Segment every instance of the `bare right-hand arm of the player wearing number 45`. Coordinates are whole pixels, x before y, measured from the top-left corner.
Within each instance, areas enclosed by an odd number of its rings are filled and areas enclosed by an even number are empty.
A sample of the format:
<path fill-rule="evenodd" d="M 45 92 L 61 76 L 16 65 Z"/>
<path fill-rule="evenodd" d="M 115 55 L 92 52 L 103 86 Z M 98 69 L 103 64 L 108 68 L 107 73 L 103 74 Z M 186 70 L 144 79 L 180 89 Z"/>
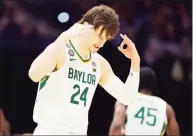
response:
<path fill-rule="evenodd" d="M 170 105 L 167 105 L 166 113 L 168 118 L 168 125 L 166 130 L 167 135 L 179 136 L 180 130 L 179 130 L 178 122 L 176 120 L 174 110 Z"/>

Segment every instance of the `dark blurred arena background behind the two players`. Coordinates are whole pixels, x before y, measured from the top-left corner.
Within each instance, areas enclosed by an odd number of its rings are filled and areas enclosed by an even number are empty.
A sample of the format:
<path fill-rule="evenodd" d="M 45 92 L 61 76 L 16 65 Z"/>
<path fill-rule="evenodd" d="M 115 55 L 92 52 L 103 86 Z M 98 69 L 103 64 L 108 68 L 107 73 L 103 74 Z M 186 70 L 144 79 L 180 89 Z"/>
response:
<path fill-rule="evenodd" d="M 107 4 L 119 13 L 120 32 L 135 43 L 141 66 L 155 71 L 158 96 L 173 106 L 181 135 L 192 135 L 191 0 L 1 0 L 0 108 L 11 132 L 32 133 L 36 127 L 32 112 L 37 84 L 28 77 L 32 61 L 98 4 Z M 117 36 L 99 53 L 125 82 L 130 62 L 117 50 L 120 42 Z M 101 87 L 97 88 L 90 109 L 89 135 L 108 133 L 114 102 Z"/>

